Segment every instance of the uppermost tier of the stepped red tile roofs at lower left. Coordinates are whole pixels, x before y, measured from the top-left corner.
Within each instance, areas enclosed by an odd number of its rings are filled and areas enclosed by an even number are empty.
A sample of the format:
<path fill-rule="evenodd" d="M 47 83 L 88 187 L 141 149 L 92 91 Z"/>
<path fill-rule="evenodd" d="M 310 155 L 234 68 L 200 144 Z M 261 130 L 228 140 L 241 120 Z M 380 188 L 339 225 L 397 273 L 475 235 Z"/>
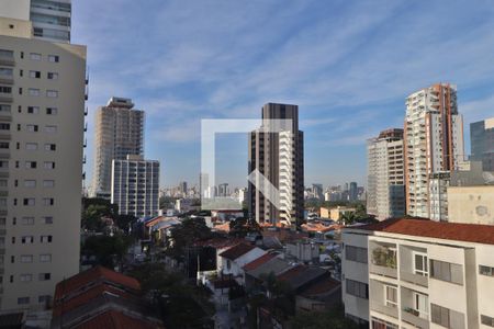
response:
<path fill-rule="evenodd" d="M 105 280 L 135 291 L 141 291 L 141 284 L 134 277 L 114 272 L 103 266 L 96 266 L 57 283 L 54 299 L 56 302 L 64 295 L 99 280 Z"/>

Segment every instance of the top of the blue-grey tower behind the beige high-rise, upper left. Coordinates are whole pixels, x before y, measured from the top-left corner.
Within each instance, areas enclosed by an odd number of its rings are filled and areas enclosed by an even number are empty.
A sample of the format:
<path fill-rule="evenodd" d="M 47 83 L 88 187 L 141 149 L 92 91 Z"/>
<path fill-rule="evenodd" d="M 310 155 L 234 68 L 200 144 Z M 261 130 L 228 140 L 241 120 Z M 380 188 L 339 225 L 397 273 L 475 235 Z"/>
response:
<path fill-rule="evenodd" d="M 2 0 L 0 16 L 33 23 L 33 36 L 70 43 L 71 0 Z"/>

